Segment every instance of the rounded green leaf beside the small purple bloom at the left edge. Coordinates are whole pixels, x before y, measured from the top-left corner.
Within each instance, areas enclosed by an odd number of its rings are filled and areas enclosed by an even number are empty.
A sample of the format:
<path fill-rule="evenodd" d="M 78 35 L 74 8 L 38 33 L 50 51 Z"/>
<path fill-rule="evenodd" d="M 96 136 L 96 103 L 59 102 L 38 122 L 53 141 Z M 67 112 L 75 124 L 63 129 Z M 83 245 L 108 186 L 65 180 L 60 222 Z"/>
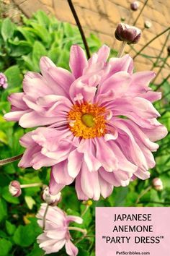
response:
<path fill-rule="evenodd" d="M 22 83 L 22 75 L 20 74 L 19 67 L 14 65 L 6 69 L 4 74 L 7 77 L 9 88 L 15 88 Z"/>

